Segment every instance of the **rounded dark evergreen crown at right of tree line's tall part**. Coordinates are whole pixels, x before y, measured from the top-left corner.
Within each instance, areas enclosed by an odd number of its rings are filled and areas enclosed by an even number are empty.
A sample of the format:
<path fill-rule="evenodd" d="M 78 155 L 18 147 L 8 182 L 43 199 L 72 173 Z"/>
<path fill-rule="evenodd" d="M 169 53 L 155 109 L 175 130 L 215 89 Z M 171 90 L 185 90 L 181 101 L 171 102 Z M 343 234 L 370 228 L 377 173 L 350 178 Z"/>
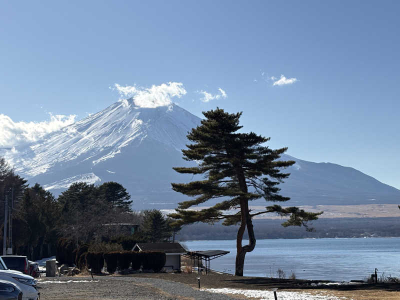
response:
<path fill-rule="evenodd" d="M 97 188 L 99 195 L 110 203 L 113 208 L 132 211 L 130 208 L 132 204 L 132 200 L 129 200 L 130 195 L 120 183 L 113 181 L 104 182 Z"/>

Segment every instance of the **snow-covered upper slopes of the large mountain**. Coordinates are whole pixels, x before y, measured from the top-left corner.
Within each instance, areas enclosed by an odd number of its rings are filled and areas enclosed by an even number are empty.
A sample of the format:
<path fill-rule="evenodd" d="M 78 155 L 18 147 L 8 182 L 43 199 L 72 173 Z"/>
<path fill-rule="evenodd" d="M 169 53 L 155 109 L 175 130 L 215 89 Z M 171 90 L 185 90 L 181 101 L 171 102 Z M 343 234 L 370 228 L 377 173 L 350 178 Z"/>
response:
<path fill-rule="evenodd" d="M 90 161 L 96 165 L 121 153 L 127 145 L 138 146 L 151 138 L 180 151 L 187 131 L 199 118 L 177 105 L 142 108 L 132 99 L 118 101 L 60 131 L 45 136 L 18 153 L 7 155 L 15 170 L 27 177 L 48 172 L 62 164 Z"/>

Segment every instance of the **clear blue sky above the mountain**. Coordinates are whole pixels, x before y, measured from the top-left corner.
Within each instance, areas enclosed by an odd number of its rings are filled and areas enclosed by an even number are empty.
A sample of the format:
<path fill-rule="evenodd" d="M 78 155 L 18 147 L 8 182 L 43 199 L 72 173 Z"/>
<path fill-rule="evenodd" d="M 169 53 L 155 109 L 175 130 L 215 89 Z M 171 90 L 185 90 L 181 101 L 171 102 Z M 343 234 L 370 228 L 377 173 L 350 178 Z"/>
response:
<path fill-rule="evenodd" d="M 49 112 L 79 119 L 118 99 L 114 83 L 181 82 L 187 93 L 174 100 L 196 115 L 243 111 L 244 130 L 271 136 L 271 147 L 400 188 L 399 8 L 0 1 L 0 113 L 15 123 L 50 120 Z M 273 85 L 281 75 L 287 84 Z M 199 91 L 218 88 L 226 97 L 201 100 Z"/>

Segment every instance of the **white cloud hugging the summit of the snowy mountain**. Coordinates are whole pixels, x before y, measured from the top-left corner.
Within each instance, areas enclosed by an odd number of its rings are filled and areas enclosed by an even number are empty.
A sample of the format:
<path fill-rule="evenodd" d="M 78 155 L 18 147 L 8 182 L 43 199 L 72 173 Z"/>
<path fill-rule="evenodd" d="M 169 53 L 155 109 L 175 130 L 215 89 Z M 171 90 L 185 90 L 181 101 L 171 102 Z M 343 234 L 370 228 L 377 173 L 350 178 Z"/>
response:
<path fill-rule="evenodd" d="M 181 82 L 162 83 L 160 85 L 151 85 L 148 88 L 136 85 L 122 86 L 115 83 L 114 89 L 119 92 L 121 101 L 131 97 L 136 106 L 150 108 L 170 105 L 172 104 L 172 97 L 180 98 L 186 94 L 186 90 Z"/>

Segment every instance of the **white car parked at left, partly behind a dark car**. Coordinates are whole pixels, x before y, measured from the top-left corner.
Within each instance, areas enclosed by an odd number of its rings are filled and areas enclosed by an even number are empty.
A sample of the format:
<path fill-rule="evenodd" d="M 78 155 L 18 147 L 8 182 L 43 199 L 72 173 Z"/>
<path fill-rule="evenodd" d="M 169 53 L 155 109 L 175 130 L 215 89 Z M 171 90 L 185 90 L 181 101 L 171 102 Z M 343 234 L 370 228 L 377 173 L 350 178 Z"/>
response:
<path fill-rule="evenodd" d="M 10 281 L 22 291 L 22 300 L 38 300 L 39 292 L 36 289 L 36 280 L 20 271 L 7 269 L 0 257 L 0 280 Z"/>

